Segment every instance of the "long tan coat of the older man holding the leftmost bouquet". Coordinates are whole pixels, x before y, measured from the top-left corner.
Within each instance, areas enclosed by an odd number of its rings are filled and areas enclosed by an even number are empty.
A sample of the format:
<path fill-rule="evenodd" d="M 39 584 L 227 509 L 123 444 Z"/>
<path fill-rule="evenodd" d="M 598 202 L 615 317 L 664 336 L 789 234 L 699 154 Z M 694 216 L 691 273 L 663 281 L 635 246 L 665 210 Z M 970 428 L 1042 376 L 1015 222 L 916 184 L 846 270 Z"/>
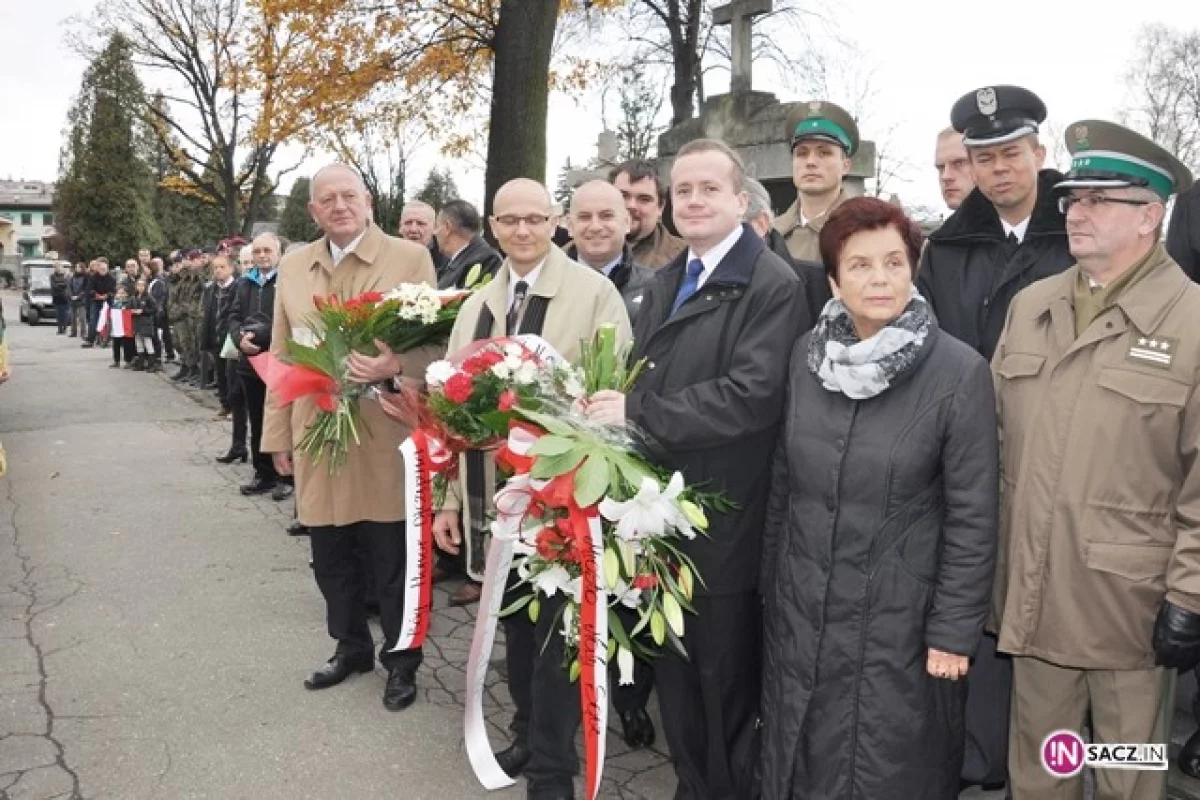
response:
<path fill-rule="evenodd" d="M 434 285 L 433 260 L 420 245 L 389 236 L 372 224 L 352 253 L 334 266 L 328 237 L 288 253 L 280 261 L 275 287 L 271 353 L 283 356 L 289 338 L 305 336 L 317 313 L 313 297 L 350 299 L 365 291 L 388 291 L 401 283 Z M 401 356 L 407 381 L 424 385 L 425 368 L 440 348 L 418 348 Z M 310 527 L 404 518 L 403 461 L 400 444 L 410 431 L 388 417 L 379 403 L 360 402 L 361 444 L 352 444 L 346 464 L 330 475 L 325 462 L 313 464 L 295 453 L 295 498 L 300 522 Z M 263 420 L 263 452 L 288 452 L 317 417 L 317 403 L 304 397 L 278 407 L 268 393 Z"/>

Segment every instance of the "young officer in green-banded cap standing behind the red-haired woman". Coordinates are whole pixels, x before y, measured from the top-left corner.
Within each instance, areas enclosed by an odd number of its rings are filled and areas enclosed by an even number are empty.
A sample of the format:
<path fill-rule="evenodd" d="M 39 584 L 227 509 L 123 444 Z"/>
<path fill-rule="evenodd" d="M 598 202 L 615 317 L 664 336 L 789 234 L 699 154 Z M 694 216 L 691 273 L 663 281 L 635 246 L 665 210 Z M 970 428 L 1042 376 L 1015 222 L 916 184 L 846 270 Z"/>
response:
<path fill-rule="evenodd" d="M 858 152 L 858 125 L 846 109 L 828 101 L 800 103 L 787 119 L 792 142 L 796 203 L 775 219 L 792 258 L 820 261 L 817 239 L 829 212 L 846 200 L 842 180 Z"/>

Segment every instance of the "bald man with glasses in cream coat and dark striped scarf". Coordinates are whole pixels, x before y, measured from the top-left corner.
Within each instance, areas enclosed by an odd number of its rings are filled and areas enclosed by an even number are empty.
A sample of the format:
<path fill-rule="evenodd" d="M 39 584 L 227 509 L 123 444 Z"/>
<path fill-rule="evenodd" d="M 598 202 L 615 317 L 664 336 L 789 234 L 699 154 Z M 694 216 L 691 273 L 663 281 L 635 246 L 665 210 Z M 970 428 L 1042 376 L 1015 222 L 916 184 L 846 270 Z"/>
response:
<path fill-rule="evenodd" d="M 564 359 L 576 361 L 580 343 L 590 339 L 601 325 L 616 325 L 618 343 L 629 342 L 629 317 L 617 288 L 551 243 L 558 221 L 545 186 L 526 179 L 505 184 L 496 193 L 490 222 L 508 258 L 496 278 L 463 306 L 450 335 L 451 355 L 473 341 L 532 333 L 546 339 Z M 479 452 L 464 458 L 461 497 L 466 525 L 460 523 L 460 503 L 452 493 L 433 522 L 438 547 L 448 553 L 466 548 L 468 572 L 476 579 L 484 577 L 484 531 L 496 488 L 490 462 Z M 514 572 L 510 585 L 516 581 Z M 526 591 L 528 588 L 522 588 L 505 597 L 505 604 Z M 578 770 L 578 687 L 563 667 L 562 636 L 553 630 L 557 600 L 542 600 L 536 627 L 526 614 L 504 618 L 509 691 L 516 704 L 510 726 L 515 742 L 498 753 L 497 760 L 514 777 L 527 772 L 530 798 L 572 796 L 571 777 Z"/>

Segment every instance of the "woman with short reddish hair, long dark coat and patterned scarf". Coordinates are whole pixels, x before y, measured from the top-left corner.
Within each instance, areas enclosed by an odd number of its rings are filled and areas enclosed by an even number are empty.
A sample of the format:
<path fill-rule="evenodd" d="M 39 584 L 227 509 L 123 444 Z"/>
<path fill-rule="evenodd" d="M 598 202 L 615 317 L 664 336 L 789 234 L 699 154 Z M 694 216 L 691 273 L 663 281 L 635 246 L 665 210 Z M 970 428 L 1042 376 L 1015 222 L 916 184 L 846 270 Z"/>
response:
<path fill-rule="evenodd" d="M 953 800 L 996 558 L 988 363 L 913 288 L 920 234 L 845 203 L 791 356 L 763 547 L 764 800 Z"/>

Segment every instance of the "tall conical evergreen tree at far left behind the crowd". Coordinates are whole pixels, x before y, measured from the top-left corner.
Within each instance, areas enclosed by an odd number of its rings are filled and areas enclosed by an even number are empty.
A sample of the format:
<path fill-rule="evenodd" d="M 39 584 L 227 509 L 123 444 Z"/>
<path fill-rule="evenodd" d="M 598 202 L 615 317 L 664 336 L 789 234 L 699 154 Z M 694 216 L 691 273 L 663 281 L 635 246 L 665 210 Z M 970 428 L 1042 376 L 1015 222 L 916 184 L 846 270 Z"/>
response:
<path fill-rule="evenodd" d="M 144 106 L 130 43 L 114 35 L 84 72 L 67 116 L 54 212 L 72 260 L 121 260 L 163 243 L 154 173 L 139 146 Z"/>

